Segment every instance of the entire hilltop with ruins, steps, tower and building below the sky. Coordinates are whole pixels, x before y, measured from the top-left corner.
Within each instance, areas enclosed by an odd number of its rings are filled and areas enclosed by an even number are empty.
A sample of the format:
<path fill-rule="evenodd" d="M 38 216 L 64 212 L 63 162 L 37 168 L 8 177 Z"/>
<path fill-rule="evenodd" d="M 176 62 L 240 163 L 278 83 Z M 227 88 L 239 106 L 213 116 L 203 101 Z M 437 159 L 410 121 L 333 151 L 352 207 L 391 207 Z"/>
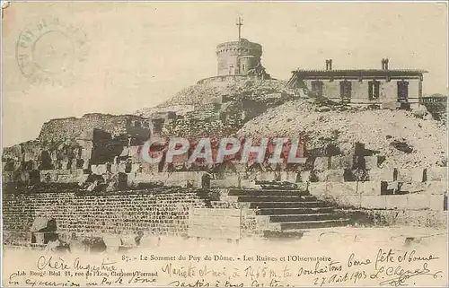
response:
<path fill-rule="evenodd" d="M 261 65 L 262 46 L 242 38 L 241 18 L 237 25 L 238 40 L 216 47 L 217 74 L 159 107 L 52 119 L 37 139 L 4 148 L 4 243 L 30 243 L 39 217 L 56 220 L 61 234 L 186 236 L 192 209 L 203 208 L 209 210 L 202 210 L 199 229 L 207 229 L 214 209 L 238 211 L 239 237 L 297 236 L 342 225 L 447 224 L 440 141 L 447 97 L 422 95 L 426 71 L 389 69 L 388 59 L 382 69 L 333 70 L 327 59 L 326 70 L 297 69 L 288 82 L 279 81 Z M 399 123 L 407 129 L 371 139 L 357 125 L 369 121 L 353 121 L 360 115 L 375 120 L 365 130 L 397 131 Z M 253 134 L 304 135 L 304 161 L 188 167 L 148 164 L 139 155 L 154 135 Z M 429 137 L 435 143 L 423 144 Z M 427 146 L 430 152 L 422 149 Z"/>

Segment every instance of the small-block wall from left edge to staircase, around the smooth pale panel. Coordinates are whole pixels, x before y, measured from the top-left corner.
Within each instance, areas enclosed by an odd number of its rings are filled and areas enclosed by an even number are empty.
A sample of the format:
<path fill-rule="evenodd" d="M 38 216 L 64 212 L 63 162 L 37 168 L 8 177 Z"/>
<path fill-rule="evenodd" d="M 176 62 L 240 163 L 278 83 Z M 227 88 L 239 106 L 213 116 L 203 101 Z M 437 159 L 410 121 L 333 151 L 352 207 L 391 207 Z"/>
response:
<path fill-rule="evenodd" d="M 4 194 L 4 240 L 15 245 L 30 242 L 30 229 L 36 217 L 54 218 L 57 231 L 77 236 L 98 237 L 107 234 L 145 234 L 186 236 L 189 212 L 194 208 L 241 210 L 243 238 L 262 237 L 269 226 L 266 216 L 258 215 L 249 205 L 201 194 L 195 189 L 163 188 L 164 192 L 143 190 L 104 195 L 76 193 Z M 215 192 L 214 192 L 215 191 Z M 223 191 L 222 191 L 223 192 Z"/>

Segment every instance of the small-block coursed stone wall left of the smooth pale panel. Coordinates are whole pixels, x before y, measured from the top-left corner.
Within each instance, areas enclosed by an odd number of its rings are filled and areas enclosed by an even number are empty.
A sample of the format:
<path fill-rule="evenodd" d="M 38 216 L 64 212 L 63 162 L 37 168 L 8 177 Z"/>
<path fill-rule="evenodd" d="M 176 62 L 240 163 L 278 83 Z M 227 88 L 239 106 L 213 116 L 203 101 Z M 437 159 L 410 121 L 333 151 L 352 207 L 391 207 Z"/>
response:
<path fill-rule="evenodd" d="M 3 201 L 4 231 L 30 231 L 37 216 L 51 216 L 57 220 L 58 231 L 75 231 L 80 235 L 102 231 L 181 235 L 187 232 L 189 206 L 205 206 L 195 190 L 179 188 L 176 192 L 136 194 L 135 191 L 107 196 L 4 194 Z"/>

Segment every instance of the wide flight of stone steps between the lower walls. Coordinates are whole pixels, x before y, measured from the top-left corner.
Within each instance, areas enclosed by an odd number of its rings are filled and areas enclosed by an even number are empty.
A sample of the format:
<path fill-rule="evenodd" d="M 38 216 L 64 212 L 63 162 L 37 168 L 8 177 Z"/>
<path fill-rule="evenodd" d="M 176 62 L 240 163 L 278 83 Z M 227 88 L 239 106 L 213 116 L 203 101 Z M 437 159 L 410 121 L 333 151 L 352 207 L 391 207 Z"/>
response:
<path fill-rule="evenodd" d="M 291 183 L 256 182 L 260 188 L 230 189 L 229 196 L 237 202 L 248 203 L 257 214 L 269 217 L 269 231 L 284 233 L 314 228 L 345 226 L 350 216 L 319 200 Z"/>

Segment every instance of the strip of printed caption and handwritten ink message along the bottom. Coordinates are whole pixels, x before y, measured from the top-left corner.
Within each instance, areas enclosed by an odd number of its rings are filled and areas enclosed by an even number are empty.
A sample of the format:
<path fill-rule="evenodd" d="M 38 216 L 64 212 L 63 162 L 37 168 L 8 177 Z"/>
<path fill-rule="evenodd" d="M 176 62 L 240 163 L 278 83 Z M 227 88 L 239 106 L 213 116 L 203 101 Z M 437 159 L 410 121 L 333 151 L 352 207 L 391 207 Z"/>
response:
<path fill-rule="evenodd" d="M 146 256 L 102 257 L 87 261 L 83 257 L 41 255 L 34 269 L 13 272 L 7 278 L 11 286 L 119 286 L 163 285 L 172 287 L 290 287 L 298 284 L 326 285 L 413 285 L 426 277 L 427 283 L 445 277 L 436 269 L 436 255 L 417 250 L 378 249 L 372 257 L 348 254 L 343 259 L 304 257 L 314 261 L 258 261 L 257 256 L 238 257 L 198 255 L 164 256 L 161 260 Z M 275 258 L 275 257 L 273 257 Z M 165 260 L 169 259 L 169 260 Z M 174 261 L 172 261 L 174 259 Z M 120 261 L 121 260 L 121 261 Z M 130 261 L 145 261 L 153 271 L 129 270 Z M 235 266 L 240 260 L 241 266 Z M 136 267 L 136 266 L 135 266 Z"/>

